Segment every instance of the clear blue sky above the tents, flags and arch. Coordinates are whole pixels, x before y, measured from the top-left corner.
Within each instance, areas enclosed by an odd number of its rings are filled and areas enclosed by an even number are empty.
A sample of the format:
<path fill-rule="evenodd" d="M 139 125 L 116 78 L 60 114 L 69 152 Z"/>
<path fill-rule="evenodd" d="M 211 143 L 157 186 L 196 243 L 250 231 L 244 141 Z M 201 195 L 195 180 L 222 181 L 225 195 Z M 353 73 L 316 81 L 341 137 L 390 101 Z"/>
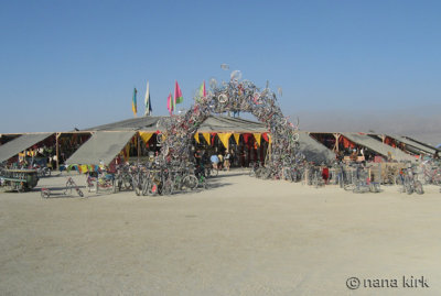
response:
<path fill-rule="evenodd" d="M 430 107 L 441 94 L 441 1 L 1 1 L 0 133 L 132 118 L 150 81 L 166 114 L 230 70 L 283 89 L 287 116 Z M 139 114 L 140 116 L 140 114 Z"/>

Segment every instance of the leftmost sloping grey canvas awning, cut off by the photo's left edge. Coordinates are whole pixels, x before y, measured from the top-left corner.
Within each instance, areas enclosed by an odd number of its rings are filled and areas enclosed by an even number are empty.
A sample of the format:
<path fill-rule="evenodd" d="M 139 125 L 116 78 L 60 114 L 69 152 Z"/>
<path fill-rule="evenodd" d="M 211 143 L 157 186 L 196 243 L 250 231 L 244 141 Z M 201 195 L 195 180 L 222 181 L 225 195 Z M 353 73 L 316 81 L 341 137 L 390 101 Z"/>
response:
<path fill-rule="evenodd" d="M 54 133 L 26 133 L 0 146 L 0 163 L 50 138 Z"/>

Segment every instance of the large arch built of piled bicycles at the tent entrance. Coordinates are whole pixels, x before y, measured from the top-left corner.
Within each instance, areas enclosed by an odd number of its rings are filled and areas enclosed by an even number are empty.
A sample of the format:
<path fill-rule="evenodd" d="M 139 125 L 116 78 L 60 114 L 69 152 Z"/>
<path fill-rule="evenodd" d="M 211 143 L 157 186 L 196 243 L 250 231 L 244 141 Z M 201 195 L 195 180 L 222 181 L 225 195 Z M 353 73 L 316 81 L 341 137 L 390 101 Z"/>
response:
<path fill-rule="evenodd" d="M 298 127 L 288 121 L 277 105 L 277 96 L 268 86 L 260 90 L 249 80 L 240 80 L 235 72 L 229 83 L 211 81 L 205 97 L 196 97 L 195 103 L 183 116 L 172 116 L 160 121 L 165 129 L 161 155 L 168 164 L 182 164 L 191 157 L 192 140 L 198 127 L 212 113 L 250 112 L 263 122 L 271 136 L 271 155 L 267 167 L 275 176 L 281 176 L 284 166 L 293 165 L 298 152 Z"/>

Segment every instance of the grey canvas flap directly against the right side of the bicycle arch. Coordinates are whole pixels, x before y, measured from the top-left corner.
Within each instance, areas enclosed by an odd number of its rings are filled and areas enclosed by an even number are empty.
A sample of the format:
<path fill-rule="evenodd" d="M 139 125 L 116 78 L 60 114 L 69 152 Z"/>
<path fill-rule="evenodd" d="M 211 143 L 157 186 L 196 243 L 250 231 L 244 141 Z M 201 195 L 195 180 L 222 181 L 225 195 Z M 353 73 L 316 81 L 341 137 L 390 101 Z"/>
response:
<path fill-rule="evenodd" d="M 335 161 L 335 153 L 311 138 L 308 132 L 299 131 L 299 144 L 300 152 L 304 154 L 308 162 L 331 164 Z"/>

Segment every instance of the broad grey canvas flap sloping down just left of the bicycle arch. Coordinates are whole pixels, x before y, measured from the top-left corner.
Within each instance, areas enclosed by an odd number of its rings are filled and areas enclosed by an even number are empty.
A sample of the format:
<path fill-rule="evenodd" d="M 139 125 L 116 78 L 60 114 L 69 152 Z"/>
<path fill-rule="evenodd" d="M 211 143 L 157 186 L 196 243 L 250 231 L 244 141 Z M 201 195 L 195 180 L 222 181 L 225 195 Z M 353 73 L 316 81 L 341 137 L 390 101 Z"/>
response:
<path fill-rule="evenodd" d="M 136 131 L 96 131 L 72 156 L 66 164 L 105 165 L 118 155 L 135 135 Z"/>

